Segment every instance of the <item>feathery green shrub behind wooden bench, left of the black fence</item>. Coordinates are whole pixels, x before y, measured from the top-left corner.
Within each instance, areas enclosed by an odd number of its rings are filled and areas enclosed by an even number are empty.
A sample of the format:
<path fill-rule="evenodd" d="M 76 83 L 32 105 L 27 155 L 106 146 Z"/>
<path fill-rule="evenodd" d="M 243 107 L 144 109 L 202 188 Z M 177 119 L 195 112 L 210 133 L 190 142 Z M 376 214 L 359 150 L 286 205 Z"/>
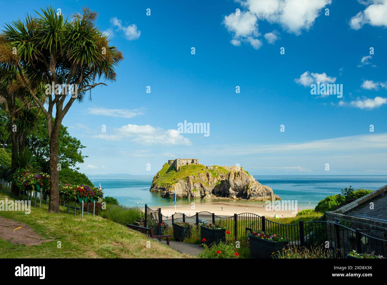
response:
<path fill-rule="evenodd" d="M 106 210 L 99 211 L 99 216 L 122 225 L 126 225 L 126 223 L 133 225 L 134 221 L 145 215 L 137 207 L 107 205 Z"/>

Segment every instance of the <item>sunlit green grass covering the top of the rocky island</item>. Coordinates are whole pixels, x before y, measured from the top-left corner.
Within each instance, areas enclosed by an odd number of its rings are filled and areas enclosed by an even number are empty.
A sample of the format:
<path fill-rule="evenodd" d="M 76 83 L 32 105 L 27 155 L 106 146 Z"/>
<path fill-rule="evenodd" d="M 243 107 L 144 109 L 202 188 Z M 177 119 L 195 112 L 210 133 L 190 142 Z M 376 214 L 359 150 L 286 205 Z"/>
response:
<path fill-rule="evenodd" d="M 159 185 L 161 187 L 170 187 L 173 183 L 176 183 L 180 179 L 184 179 L 191 175 L 198 176 L 200 173 L 205 173 L 206 171 L 211 173 L 211 175 L 214 177 L 219 176 L 220 174 L 228 173 L 228 171 L 221 166 L 214 165 L 214 169 L 205 169 L 204 165 L 195 164 L 184 165 L 180 168 L 180 171 L 177 172 L 176 170 L 170 168 L 170 165 L 166 163 L 163 165 L 163 168 L 161 168 L 161 170 L 158 172 L 158 174 L 160 174 L 160 177 L 154 179 L 153 184 Z"/>

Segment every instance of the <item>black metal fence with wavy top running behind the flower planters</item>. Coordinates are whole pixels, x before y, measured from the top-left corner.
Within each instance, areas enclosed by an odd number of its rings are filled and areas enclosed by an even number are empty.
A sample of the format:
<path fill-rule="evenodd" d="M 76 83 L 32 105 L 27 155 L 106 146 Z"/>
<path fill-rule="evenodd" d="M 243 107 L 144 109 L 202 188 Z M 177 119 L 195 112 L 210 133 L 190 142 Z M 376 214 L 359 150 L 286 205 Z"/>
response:
<path fill-rule="evenodd" d="M 226 231 L 230 232 L 226 235 L 226 240 L 230 242 L 246 240 L 246 229 L 250 229 L 256 232 L 269 231 L 289 238 L 289 245 L 297 247 L 324 247 L 329 250 L 330 256 L 335 258 L 345 257 L 352 250 L 356 250 L 358 253 L 375 252 L 382 256 L 387 253 L 387 240 L 372 237 L 358 229 L 355 230 L 328 221 L 308 221 L 305 223 L 300 221 L 298 224 L 281 224 L 253 213 L 217 216 L 207 211 L 197 212 L 193 216 L 187 216 L 184 213 L 164 216 L 161 214 L 161 208 L 153 210 L 147 205 L 145 205 L 145 217 L 145 226 L 153 226 L 159 235 L 162 234 L 162 225 L 172 226 L 174 222 L 184 221 L 190 225 L 199 226 L 201 223 L 210 222 L 225 227 Z"/>

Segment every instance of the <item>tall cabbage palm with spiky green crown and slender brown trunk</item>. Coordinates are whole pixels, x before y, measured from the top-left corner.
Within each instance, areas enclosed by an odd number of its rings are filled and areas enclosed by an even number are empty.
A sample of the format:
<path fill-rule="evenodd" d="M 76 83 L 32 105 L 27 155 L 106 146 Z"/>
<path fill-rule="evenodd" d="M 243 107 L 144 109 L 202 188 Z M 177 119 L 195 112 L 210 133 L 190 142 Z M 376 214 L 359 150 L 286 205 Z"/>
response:
<path fill-rule="evenodd" d="M 26 89 L 47 117 L 50 212 L 59 211 L 58 136 L 63 117 L 75 100 L 83 102 L 87 91 L 91 98 L 92 88 L 106 85 L 96 79 L 115 81 L 115 67 L 123 59 L 122 53 L 109 46 L 107 36 L 95 26 L 97 16 L 96 12 L 84 8 L 68 20 L 49 7 L 37 12 L 36 17 L 27 16 L 24 21 L 6 24 L 0 35 L 0 51 L 5 52 L 0 55 L 0 62 L 6 67 L 16 67 Z M 2 48 L 2 41 L 11 48 Z M 15 50 L 16 54 L 12 54 Z M 36 84 L 42 83 L 47 88 L 46 100 L 39 99 L 34 92 Z"/>

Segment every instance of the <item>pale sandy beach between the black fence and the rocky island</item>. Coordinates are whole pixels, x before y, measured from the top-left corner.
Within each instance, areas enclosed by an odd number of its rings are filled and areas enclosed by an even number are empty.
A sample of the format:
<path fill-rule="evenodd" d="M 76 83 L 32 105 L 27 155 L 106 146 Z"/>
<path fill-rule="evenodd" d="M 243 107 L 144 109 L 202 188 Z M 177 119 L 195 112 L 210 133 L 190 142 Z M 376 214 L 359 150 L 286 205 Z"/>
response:
<path fill-rule="evenodd" d="M 223 209 L 222 209 L 223 208 Z M 156 208 L 152 208 L 156 209 Z M 262 204 L 253 205 L 250 204 L 246 206 L 245 204 L 231 204 L 228 202 L 214 202 L 214 203 L 204 203 L 204 204 L 195 204 L 195 205 L 182 205 L 176 206 L 176 212 L 184 213 L 187 216 L 193 216 L 197 212 L 208 211 L 215 213 L 218 216 L 233 216 L 234 214 L 240 213 L 253 213 L 259 216 L 265 216 L 266 218 L 273 217 L 274 214 L 281 217 L 294 217 L 296 213 L 292 211 L 268 211 Z M 300 209 L 301 211 L 301 209 Z M 161 213 L 164 216 L 171 216 L 175 214 L 175 207 L 161 207 Z"/>

